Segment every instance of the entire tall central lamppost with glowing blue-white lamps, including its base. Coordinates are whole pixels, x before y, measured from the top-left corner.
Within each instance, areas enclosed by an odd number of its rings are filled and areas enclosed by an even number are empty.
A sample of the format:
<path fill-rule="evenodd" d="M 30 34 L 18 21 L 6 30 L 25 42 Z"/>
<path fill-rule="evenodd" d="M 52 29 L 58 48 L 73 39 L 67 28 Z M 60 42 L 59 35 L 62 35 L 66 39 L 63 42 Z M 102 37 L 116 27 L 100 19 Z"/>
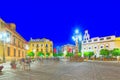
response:
<path fill-rule="evenodd" d="M 79 42 L 81 42 L 81 40 L 82 40 L 82 35 L 79 33 L 79 30 L 75 30 L 75 33 L 73 34 L 72 39 L 75 41 L 74 59 L 77 60 L 79 58 L 78 53 L 79 53 L 79 51 L 81 52 L 81 50 L 79 50 L 79 45 L 81 46 L 81 44 L 79 44 Z"/>

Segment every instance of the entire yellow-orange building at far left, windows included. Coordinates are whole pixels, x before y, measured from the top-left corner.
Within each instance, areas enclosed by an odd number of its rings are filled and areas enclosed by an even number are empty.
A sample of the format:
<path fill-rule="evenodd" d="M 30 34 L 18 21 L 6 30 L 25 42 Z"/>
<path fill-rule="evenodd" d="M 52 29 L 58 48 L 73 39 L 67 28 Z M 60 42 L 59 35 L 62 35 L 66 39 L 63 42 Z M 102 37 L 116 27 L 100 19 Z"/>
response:
<path fill-rule="evenodd" d="M 0 60 L 25 58 L 27 41 L 16 32 L 14 23 L 7 24 L 0 19 Z"/>

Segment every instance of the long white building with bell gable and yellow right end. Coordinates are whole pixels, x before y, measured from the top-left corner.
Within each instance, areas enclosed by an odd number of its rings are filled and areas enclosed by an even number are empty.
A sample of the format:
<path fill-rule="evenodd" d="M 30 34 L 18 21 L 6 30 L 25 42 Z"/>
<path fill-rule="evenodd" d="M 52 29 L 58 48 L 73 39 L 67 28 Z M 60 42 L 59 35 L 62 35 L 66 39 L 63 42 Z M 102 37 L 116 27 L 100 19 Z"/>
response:
<path fill-rule="evenodd" d="M 93 51 L 95 57 L 100 57 L 101 49 L 112 50 L 114 48 L 120 48 L 120 37 L 112 35 L 90 38 L 88 31 L 85 31 L 84 40 L 82 41 L 82 54 L 87 51 Z"/>

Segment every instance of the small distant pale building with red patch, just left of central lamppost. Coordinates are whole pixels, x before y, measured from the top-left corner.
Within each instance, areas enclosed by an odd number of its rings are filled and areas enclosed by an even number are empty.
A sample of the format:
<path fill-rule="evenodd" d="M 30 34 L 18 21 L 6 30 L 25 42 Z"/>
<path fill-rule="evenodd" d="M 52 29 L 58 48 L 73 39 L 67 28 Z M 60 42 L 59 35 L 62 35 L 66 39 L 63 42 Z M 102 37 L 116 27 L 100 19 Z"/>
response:
<path fill-rule="evenodd" d="M 75 53 L 75 45 L 72 44 L 66 44 L 62 46 L 62 52 L 70 52 L 70 53 Z"/>

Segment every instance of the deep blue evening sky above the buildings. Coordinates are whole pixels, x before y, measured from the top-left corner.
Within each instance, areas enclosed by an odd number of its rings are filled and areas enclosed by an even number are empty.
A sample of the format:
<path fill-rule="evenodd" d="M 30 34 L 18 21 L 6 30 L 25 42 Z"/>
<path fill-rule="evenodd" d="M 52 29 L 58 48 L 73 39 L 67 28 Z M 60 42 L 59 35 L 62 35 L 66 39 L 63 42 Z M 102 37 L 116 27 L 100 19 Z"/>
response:
<path fill-rule="evenodd" d="M 17 25 L 27 41 L 48 38 L 54 46 L 72 41 L 76 28 L 91 37 L 120 36 L 119 0 L 1 0 L 0 17 Z"/>

